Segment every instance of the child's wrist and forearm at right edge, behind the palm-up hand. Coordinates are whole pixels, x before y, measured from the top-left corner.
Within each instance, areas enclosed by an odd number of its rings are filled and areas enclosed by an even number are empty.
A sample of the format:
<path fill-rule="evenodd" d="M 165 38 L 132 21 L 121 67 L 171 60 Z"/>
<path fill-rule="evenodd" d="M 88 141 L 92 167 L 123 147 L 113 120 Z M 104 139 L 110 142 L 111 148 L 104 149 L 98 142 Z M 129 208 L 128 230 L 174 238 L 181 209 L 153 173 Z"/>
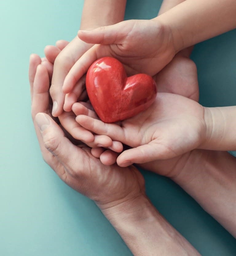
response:
<path fill-rule="evenodd" d="M 236 106 L 205 108 L 206 135 L 199 148 L 236 150 Z"/>

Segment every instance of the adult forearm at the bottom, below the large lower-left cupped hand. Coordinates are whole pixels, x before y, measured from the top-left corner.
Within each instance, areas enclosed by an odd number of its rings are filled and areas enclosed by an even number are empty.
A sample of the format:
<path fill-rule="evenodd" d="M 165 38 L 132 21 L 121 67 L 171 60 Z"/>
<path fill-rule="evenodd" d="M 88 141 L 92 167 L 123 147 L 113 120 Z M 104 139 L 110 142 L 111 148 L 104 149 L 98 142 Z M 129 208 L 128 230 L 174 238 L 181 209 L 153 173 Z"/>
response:
<path fill-rule="evenodd" d="M 145 196 L 101 210 L 135 256 L 200 255 Z"/>

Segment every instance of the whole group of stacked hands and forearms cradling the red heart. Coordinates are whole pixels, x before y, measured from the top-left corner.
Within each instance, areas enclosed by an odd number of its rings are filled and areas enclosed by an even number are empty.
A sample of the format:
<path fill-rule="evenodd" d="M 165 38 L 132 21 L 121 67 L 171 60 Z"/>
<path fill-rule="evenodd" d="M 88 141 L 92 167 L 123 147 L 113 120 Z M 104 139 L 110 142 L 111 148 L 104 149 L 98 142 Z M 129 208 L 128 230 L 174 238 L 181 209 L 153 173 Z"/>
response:
<path fill-rule="evenodd" d="M 236 4 L 166 0 L 155 19 L 120 22 L 125 1 L 101 2 L 85 1 L 86 31 L 45 47 L 45 58 L 30 56 L 42 155 L 66 184 L 95 201 L 134 255 L 199 255 L 148 200 L 132 164 L 174 180 L 236 236 L 236 159 L 226 152 L 236 149 L 236 109 L 197 102 L 189 59 L 192 45 L 236 27 Z M 99 120 L 85 89 L 89 66 L 104 56 L 120 60 L 128 76 L 146 73 L 158 85 L 151 107 L 119 124 Z"/>

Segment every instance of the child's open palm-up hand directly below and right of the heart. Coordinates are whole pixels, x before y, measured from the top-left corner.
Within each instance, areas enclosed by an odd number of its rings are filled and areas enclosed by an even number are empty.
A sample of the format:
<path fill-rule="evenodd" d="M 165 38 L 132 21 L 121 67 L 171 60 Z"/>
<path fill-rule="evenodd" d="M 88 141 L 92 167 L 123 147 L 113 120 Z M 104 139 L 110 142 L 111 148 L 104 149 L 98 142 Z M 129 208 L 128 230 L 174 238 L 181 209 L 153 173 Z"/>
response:
<path fill-rule="evenodd" d="M 79 114 L 76 121 L 81 126 L 132 147 L 118 156 L 122 167 L 182 155 L 199 148 L 206 136 L 204 107 L 180 95 L 158 93 L 153 105 L 121 126 L 81 115 L 85 109 L 77 111 L 79 104 L 73 105 L 73 111 Z"/>

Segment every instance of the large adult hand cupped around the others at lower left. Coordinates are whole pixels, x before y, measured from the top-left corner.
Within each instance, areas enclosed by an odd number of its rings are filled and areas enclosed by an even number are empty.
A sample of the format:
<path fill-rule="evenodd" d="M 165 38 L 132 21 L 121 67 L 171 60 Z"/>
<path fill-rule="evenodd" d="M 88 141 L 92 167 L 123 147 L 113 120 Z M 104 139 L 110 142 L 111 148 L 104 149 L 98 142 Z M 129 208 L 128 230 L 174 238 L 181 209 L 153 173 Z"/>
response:
<path fill-rule="evenodd" d="M 144 195 L 144 179 L 135 167 L 104 166 L 91 155 L 89 147 L 67 138 L 51 116 L 49 74 L 40 63 L 39 56 L 31 56 L 29 81 L 32 118 L 45 162 L 66 184 L 94 200 L 100 208 Z"/>

